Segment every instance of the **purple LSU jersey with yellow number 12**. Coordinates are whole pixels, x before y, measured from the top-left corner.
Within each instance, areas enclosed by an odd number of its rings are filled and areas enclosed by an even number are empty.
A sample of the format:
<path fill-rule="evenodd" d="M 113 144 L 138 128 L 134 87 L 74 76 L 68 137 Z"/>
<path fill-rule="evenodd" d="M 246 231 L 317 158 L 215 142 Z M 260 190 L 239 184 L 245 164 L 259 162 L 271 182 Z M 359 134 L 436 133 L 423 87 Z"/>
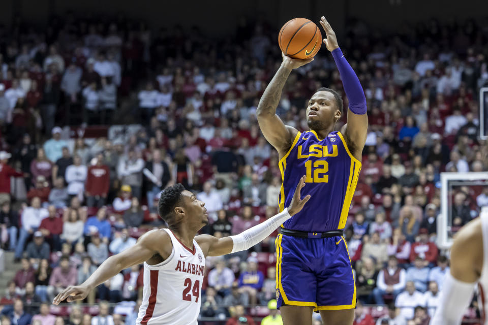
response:
<path fill-rule="evenodd" d="M 361 162 L 349 149 L 340 132 L 319 139 L 315 131 L 296 135 L 291 148 L 279 162 L 283 180 L 280 211 L 288 207 L 296 185 L 307 176 L 301 197 L 309 202 L 282 225 L 303 232 L 328 232 L 344 229 L 352 196 L 356 189 Z"/>

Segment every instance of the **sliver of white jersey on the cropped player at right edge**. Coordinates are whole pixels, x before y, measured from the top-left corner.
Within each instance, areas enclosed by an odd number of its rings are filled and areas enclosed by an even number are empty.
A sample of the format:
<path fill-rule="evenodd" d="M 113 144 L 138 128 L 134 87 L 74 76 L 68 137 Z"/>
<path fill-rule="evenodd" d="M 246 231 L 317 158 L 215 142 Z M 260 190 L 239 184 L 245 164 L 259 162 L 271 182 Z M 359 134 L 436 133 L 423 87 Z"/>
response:
<path fill-rule="evenodd" d="M 482 209 L 479 217 L 483 231 L 483 268 L 478 282 L 478 304 L 480 306 L 481 324 L 488 325 L 486 319 L 486 312 L 488 311 L 488 303 L 486 302 L 486 294 L 488 293 L 488 210 Z"/>

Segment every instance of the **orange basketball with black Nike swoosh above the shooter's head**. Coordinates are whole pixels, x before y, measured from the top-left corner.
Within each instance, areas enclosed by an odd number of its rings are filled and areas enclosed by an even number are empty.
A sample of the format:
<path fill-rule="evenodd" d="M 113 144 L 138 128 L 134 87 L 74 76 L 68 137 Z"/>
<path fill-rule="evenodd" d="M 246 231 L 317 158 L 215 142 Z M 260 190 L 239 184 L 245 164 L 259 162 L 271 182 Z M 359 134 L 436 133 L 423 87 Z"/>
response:
<path fill-rule="evenodd" d="M 309 59 L 319 51 L 322 34 L 313 21 L 295 18 L 281 27 L 278 44 L 285 55 L 296 59 Z"/>

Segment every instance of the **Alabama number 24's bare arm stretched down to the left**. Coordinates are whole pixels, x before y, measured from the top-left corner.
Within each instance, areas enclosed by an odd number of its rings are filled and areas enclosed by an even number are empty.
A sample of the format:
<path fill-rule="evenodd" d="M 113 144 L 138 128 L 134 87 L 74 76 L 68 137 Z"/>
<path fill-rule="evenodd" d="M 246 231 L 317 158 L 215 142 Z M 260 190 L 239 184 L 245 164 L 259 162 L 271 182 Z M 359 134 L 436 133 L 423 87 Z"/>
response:
<path fill-rule="evenodd" d="M 134 246 L 107 258 L 85 282 L 80 285 L 69 286 L 61 291 L 52 303 L 58 305 L 65 299 L 68 302 L 85 299 L 93 288 L 117 275 L 120 271 L 141 264 L 156 253 L 165 255 L 160 251 L 160 247 L 169 247 L 171 250 L 171 239 L 166 232 L 151 231 L 143 235 Z"/>

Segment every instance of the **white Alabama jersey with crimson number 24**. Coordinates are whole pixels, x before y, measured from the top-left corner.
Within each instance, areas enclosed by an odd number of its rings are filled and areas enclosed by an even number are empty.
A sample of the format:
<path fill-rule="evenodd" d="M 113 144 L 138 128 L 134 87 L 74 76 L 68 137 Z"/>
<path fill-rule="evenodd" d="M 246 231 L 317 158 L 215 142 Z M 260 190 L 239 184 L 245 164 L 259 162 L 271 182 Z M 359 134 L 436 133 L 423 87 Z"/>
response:
<path fill-rule="evenodd" d="M 157 265 L 144 262 L 142 304 L 136 324 L 197 325 L 205 268 L 205 256 L 193 240 L 193 250 L 169 229 L 173 251 Z"/>

